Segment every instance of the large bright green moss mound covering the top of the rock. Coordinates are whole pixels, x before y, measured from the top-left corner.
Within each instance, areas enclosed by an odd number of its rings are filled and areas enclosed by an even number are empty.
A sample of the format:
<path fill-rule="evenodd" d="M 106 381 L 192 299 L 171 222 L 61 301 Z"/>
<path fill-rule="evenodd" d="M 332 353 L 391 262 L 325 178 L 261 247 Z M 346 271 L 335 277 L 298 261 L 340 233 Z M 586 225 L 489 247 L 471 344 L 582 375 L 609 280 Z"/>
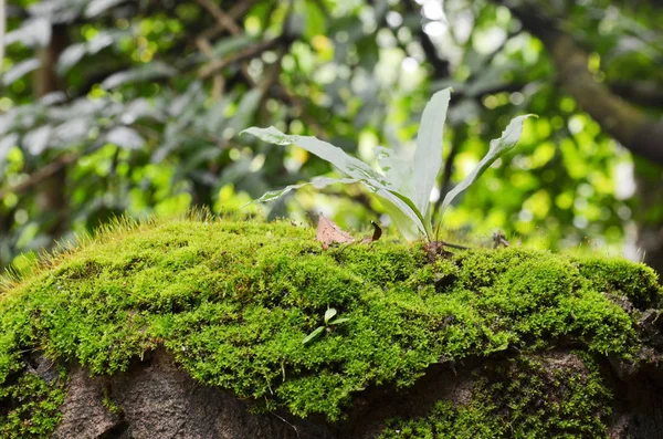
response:
<path fill-rule="evenodd" d="M 623 260 L 511 248 L 430 263 L 421 244 L 387 240 L 322 251 L 290 222 L 125 224 L 1 293 L 0 431 L 57 400 L 7 390 L 34 351 L 114 374 L 164 346 L 194 379 L 260 408 L 336 420 L 355 394 L 411 386 L 432 364 L 565 346 L 634 360 L 639 310 L 660 297 L 654 273 Z M 329 307 L 348 321 L 304 345 Z"/>

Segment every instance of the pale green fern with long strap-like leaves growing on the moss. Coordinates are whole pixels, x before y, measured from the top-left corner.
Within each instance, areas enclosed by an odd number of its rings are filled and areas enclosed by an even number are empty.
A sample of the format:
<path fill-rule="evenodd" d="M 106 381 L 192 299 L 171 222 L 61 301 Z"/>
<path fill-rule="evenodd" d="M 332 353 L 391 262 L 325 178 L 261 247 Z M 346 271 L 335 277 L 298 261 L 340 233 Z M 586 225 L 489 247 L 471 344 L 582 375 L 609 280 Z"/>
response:
<path fill-rule="evenodd" d="M 306 185 L 323 188 L 333 184 L 362 184 L 381 201 L 402 236 L 412 241 L 424 237 L 434 240 L 431 223 L 430 196 L 440 169 L 442 168 L 442 137 L 449 108 L 451 88 L 433 95 L 421 117 L 417 135 L 417 149 L 412 160 L 394 154 L 392 149 L 379 147 L 377 150 L 381 173 L 360 159 L 349 156 L 343 149 L 313 136 L 286 135 L 275 127 L 251 127 L 249 133 L 276 145 L 297 145 L 311 154 L 334 165 L 346 178 L 316 177 L 309 182 L 291 185 L 280 190 L 269 191 L 256 201 L 275 200 L 285 194 Z M 515 117 L 502 133 L 502 137 L 491 140 L 488 153 L 476 167 L 454 187 L 442 201 L 440 218 L 451 202 L 467 189 L 499 157 L 513 149 L 520 138 L 524 121 L 532 114 Z"/>

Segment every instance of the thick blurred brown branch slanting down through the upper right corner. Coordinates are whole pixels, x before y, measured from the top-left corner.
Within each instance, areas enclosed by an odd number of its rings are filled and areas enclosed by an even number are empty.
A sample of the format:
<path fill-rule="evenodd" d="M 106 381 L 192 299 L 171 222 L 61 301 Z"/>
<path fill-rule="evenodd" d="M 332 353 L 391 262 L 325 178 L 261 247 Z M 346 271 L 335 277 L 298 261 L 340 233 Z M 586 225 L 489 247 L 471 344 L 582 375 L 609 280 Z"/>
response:
<path fill-rule="evenodd" d="M 653 121 L 597 81 L 587 66 L 588 53 L 554 21 L 526 4 L 495 1 L 506 6 L 544 43 L 562 86 L 606 133 L 631 153 L 663 165 L 663 122 Z"/>

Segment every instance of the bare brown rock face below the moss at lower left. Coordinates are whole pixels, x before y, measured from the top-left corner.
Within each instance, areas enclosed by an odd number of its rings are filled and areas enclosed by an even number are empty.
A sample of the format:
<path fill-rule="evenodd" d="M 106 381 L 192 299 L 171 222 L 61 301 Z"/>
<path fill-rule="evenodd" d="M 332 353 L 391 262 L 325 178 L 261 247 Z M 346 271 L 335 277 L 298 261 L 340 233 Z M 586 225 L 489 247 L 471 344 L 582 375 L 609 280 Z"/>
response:
<path fill-rule="evenodd" d="M 162 349 L 127 373 L 71 374 L 54 439 L 296 439 L 333 438 L 325 427 L 254 415 L 228 391 L 194 383 Z"/>

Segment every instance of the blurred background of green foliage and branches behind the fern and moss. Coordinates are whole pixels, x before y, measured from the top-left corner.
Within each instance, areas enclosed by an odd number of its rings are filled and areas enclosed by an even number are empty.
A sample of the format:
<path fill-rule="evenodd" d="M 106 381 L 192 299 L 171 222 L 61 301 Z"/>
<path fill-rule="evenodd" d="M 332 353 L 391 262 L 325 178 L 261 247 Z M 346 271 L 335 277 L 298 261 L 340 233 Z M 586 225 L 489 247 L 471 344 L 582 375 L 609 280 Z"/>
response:
<path fill-rule="evenodd" d="M 444 230 L 624 251 L 663 270 L 663 7 L 654 0 L 0 0 L 0 266 L 113 216 L 213 212 L 333 174 L 275 125 L 411 150 L 453 86 L 440 198 L 512 117 L 516 150 Z M 360 188 L 261 207 L 364 229 Z M 23 254 L 23 257 L 20 257 Z"/>

